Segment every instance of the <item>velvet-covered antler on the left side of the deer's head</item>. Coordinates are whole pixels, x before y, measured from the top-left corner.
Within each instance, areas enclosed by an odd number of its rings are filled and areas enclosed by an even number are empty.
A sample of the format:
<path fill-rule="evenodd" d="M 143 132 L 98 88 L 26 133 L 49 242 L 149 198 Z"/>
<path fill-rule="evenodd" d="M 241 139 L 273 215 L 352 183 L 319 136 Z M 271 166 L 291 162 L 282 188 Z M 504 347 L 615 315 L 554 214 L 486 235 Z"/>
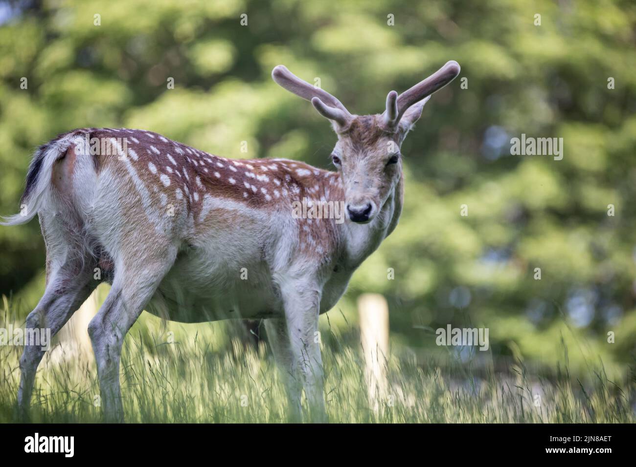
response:
<path fill-rule="evenodd" d="M 340 100 L 327 91 L 310 85 L 287 69 L 285 65 L 278 65 L 272 70 L 272 78 L 279 86 L 296 94 L 303 99 L 310 100 L 315 109 L 323 116 L 335 121 L 340 129 L 349 125 L 353 118 Z"/>

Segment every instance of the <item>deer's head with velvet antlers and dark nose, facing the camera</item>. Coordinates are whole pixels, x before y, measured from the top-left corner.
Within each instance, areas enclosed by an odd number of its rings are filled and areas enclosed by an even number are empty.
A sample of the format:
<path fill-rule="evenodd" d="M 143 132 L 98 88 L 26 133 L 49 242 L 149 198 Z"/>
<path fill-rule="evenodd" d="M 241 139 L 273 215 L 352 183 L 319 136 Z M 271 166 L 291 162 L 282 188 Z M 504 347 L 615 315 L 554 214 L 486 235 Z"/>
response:
<path fill-rule="evenodd" d="M 333 95 L 295 76 L 283 65 L 272 71 L 276 83 L 310 100 L 331 120 L 338 142 L 331 153 L 345 187 L 345 206 L 352 222 L 365 224 L 380 211 L 402 176 L 400 147 L 406 133 L 422 115 L 435 91 L 459 74 L 457 62 L 447 62 L 417 85 L 397 94 L 389 92 L 382 114 L 353 115 Z"/>

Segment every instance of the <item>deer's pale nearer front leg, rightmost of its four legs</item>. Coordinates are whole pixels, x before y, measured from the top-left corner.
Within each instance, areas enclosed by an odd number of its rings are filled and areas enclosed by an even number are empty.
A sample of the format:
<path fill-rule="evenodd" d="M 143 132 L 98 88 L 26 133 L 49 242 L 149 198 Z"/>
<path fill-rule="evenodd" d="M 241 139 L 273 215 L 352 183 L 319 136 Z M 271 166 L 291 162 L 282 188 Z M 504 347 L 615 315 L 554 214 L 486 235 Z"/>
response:
<path fill-rule="evenodd" d="M 296 284 L 283 288 L 281 292 L 289 333 L 292 365 L 298 375 L 296 384 L 301 384 L 305 389 L 311 419 L 321 422 L 327 421 L 318 335 L 319 288 Z M 300 390 L 298 396 L 300 396 Z"/>

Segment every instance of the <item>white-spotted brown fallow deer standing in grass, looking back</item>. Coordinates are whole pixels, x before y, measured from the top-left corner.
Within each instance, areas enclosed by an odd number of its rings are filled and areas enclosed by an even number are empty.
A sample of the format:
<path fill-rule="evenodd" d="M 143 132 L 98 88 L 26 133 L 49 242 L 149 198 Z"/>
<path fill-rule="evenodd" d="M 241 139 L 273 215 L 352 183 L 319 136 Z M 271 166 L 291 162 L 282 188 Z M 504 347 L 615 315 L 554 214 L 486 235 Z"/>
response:
<path fill-rule="evenodd" d="M 331 122 L 335 171 L 291 159 L 221 158 L 125 128 L 81 128 L 43 144 L 20 213 L 2 222 L 37 215 L 45 241 L 45 292 L 25 328 L 55 335 L 100 282 L 111 285 L 88 334 L 104 420 L 117 423 L 125 420 L 121 349 L 144 309 L 182 323 L 263 320 L 289 419 L 328 421 L 319 315 L 396 228 L 401 145 L 432 93 L 459 72 L 449 61 L 403 93 L 389 92 L 382 114 L 359 116 L 276 66 L 273 80 Z M 291 203 L 303 198 L 343 203 L 344 219 L 291 215 Z M 20 357 L 17 409 L 25 419 L 44 354 L 26 342 Z"/>

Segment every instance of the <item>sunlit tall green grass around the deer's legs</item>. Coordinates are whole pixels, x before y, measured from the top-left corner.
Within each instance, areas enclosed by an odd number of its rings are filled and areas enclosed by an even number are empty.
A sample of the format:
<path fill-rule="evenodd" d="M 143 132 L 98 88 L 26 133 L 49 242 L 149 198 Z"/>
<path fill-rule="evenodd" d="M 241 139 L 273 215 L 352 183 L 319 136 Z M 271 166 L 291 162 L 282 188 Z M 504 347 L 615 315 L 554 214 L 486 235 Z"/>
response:
<path fill-rule="evenodd" d="M 144 314 L 145 315 L 145 314 Z M 4 314 L 4 320 L 8 319 Z M 171 327 L 166 341 L 158 321 L 142 318 L 125 341 L 121 382 L 128 422 L 280 423 L 286 396 L 265 342 L 245 344 L 235 325 Z M 0 327 L 5 323 L 0 322 Z M 223 339 L 219 333 L 223 332 Z M 325 333 L 323 333 L 325 334 Z M 411 349 L 397 349 L 387 364 L 389 386 L 368 400 L 364 362 L 355 339 L 328 332 L 322 344 L 331 422 L 354 423 L 633 423 L 634 381 L 610 381 L 602 367 L 572 376 L 563 365 L 550 376 L 513 358 L 508 367 L 477 368 L 446 358 L 422 365 Z M 228 337 L 228 335 L 230 337 Z M 225 342 L 219 344 L 219 342 Z M 22 348 L 0 347 L 0 422 L 15 421 Z M 32 421 L 99 422 L 97 372 L 91 359 L 47 354 L 38 371 Z M 492 362 L 492 358 L 490 361 Z M 501 366 L 501 365 L 499 365 Z M 537 396 L 538 395 L 538 396 Z"/>

